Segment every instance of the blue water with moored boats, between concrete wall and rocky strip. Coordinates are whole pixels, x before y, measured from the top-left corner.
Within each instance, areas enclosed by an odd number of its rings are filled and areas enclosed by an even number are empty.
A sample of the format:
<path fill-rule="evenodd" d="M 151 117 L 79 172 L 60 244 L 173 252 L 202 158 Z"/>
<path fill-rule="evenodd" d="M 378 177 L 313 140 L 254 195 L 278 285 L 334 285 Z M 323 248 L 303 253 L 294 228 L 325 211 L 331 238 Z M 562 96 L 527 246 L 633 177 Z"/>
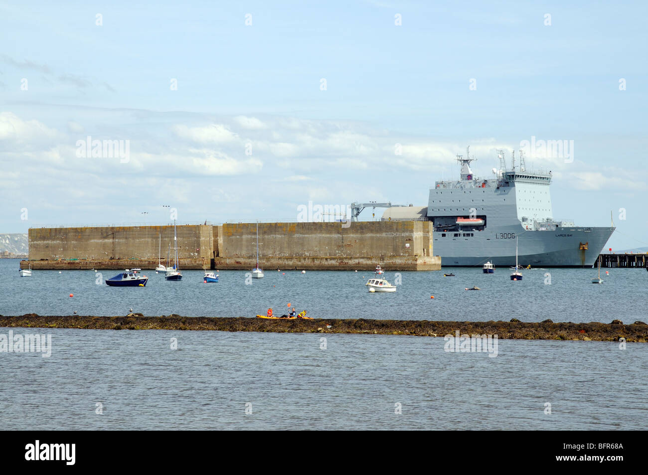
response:
<path fill-rule="evenodd" d="M 18 264 L 17 259 L 0 259 L 0 314 L 69 315 L 76 310 L 80 315 L 125 315 L 133 308 L 146 316 L 253 317 L 268 307 L 284 312 L 292 303 L 314 318 L 648 321 L 641 297 L 648 272 L 642 269 L 611 269 L 609 275 L 603 270 L 601 286 L 591 283 L 595 269 L 523 270 L 519 282 L 509 280 L 507 268 L 492 275 L 452 269 L 456 277 L 388 270 L 388 281 L 399 283 L 397 292 L 369 294 L 364 284 L 373 273 L 363 271 L 266 270 L 263 279 L 246 279 L 246 271 L 221 271 L 218 283 L 205 284 L 202 271 L 183 271 L 182 281 L 168 282 L 145 270 L 150 277 L 145 288 L 115 288 L 102 281 L 115 270 L 34 270 L 32 277 L 19 277 Z M 473 285 L 481 290 L 465 290 Z"/>

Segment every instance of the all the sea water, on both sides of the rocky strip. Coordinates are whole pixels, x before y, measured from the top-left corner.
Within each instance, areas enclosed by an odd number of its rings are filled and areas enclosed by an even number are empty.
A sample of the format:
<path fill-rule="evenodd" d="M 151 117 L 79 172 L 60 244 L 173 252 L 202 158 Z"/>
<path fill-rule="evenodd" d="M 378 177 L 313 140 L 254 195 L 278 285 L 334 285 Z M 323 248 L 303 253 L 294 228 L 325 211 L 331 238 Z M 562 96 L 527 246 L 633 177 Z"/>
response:
<path fill-rule="evenodd" d="M 274 270 L 246 285 L 242 271 L 221 272 L 216 284 L 202 283 L 198 271 L 179 283 L 145 271 L 146 288 L 119 289 L 95 284 L 91 271 L 21 278 L 17 268 L 0 260 L 0 314 L 119 315 L 133 307 L 145 315 L 253 316 L 290 302 L 316 318 L 647 319 L 637 299 L 648 278 L 641 270 L 612 270 L 603 286 L 590 283 L 594 270 L 581 269 L 523 271 L 517 283 L 505 269 L 402 272 L 395 294 L 369 294 L 366 272 Z M 483 290 L 464 290 L 472 285 Z M 5 429 L 576 430 L 645 429 L 648 420 L 645 343 L 622 350 L 610 342 L 499 340 L 490 358 L 410 336 L 12 330 L 51 334 L 52 354 L 0 353 Z"/>

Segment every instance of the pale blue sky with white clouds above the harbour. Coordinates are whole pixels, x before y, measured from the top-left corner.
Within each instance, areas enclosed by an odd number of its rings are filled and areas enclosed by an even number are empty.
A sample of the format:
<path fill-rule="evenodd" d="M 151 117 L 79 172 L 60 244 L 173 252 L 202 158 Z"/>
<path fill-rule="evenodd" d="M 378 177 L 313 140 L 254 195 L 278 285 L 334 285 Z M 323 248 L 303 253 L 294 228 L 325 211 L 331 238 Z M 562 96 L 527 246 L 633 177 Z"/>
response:
<path fill-rule="evenodd" d="M 568 146 L 526 158 L 553 172 L 554 218 L 612 217 L 609 247 L 646 246 L 647 14 L 640 1 L 4 1 L 0 232 L 168 223 L 172 208 L 216 224 L 295 221 L 308 202 L 422 206 L 467 146 L 491 178 L 499 149 L 510 165 L 534 137 Z"/>

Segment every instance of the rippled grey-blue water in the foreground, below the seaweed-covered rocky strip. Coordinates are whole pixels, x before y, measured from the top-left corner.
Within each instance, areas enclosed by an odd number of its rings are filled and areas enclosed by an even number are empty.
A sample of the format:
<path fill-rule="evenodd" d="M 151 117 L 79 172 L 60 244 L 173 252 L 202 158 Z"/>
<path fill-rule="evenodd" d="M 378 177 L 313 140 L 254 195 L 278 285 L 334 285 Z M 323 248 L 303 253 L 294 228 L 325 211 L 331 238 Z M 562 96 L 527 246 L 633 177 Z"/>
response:
<path fill-rule="evenodd" d="M 0 353 L 3 429 L 627 430 L 648 420 L 645 343 L 500 340 L 489 358 L 411 336 L 329 334 L 321 349 L 322 334 L 28 331 L 49 332 L 52 354 Z"/>

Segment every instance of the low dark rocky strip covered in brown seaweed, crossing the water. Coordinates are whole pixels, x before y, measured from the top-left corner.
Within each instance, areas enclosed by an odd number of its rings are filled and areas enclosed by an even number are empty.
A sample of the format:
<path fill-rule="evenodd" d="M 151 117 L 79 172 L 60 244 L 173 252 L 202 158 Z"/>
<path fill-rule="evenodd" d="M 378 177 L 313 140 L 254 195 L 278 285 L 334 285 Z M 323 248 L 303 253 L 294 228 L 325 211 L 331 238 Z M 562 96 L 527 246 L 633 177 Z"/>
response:
<path fill-rule="evenodd" d="M 616 342 L 648 342 L 648 325 L 636 321 L 624 325 L 612 323 L 541 323 L 512 321 L 428 321 L 428 320 L 373 320 L 373 319 L 295 319 L 268 320 L 246 317 L 183 317 L 176 314 L 145 317 L 128 316 L 22 316 L 0 315 L 0 327 L 72 328 L 93 330 L 219 330 L 228 332 L 279 333 L 349 333 L 389 334 L 411 336 L 445 336 L 460 334 L 492 334 L 498 338 L 516 340 L 586 340 Z"/>

